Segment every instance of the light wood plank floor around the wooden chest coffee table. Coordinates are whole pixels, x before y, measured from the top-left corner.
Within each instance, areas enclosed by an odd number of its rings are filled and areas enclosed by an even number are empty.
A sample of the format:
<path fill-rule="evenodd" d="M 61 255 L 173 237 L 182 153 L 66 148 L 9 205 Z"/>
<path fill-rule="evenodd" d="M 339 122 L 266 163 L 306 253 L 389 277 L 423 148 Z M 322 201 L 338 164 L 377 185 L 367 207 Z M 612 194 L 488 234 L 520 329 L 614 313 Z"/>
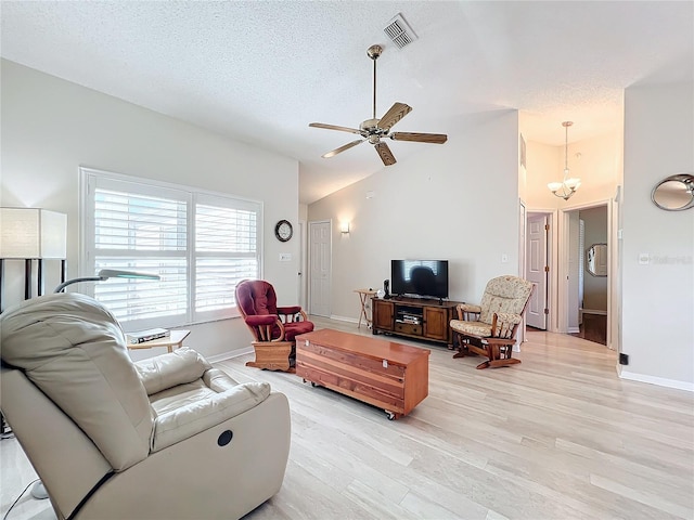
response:
<path fill-rule="evenodd" d="M 694 394 L 620 380 L 615 353 L 594 342 L 527 339 L 514 354 L 523 364 L 485 370 L 479 358 L 408 342 L 432 350 L 429 395 L 396 421 L 295 375 L 244 366 L 252 355 L 219 363 L 239 381 L 269 381 L 292 408 L 282 490 L 246 520 L 694 518 Z M 26 468 L 7 468 L 7 453 L 3 487 L 11 471 L 25 485 Z M 30 502 L 10 520 L 36 518 Z M 3 490 L 0 512 L 10 503 Z"/>

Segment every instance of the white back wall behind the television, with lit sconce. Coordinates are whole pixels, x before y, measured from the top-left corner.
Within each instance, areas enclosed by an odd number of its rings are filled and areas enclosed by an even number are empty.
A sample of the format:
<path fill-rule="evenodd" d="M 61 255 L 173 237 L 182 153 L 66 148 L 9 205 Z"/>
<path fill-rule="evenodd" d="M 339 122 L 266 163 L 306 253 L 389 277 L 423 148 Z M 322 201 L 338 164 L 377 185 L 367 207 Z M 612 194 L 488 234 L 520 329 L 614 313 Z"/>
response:
<path fill-rule="evenodd" d="M 517 112 L 491 112 L 461 121 L 441 146 L 400 143 L 422 153 L 309 206 L 310 221 L 335 227 L 333 316 L 357 320 L 354 289 L 382 287 L 391 259 L 449 260 L 450 299 L 471 302 L 489 278 L 518 273 L 517 128 Z"/>

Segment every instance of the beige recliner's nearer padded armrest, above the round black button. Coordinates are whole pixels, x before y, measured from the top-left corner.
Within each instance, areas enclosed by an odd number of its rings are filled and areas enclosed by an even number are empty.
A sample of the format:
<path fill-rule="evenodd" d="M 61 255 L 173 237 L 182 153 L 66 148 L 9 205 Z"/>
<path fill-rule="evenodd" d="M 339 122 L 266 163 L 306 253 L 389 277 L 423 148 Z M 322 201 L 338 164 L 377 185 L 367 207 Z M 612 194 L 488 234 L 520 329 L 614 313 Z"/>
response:
<path fill-rule="evenodd" d="M 163 413 L 154 421 L 152 452 L 164 450 L 241 415 L 268 399 L 268 395 L 269 384 L 244 382 L 207 399 Z"/>

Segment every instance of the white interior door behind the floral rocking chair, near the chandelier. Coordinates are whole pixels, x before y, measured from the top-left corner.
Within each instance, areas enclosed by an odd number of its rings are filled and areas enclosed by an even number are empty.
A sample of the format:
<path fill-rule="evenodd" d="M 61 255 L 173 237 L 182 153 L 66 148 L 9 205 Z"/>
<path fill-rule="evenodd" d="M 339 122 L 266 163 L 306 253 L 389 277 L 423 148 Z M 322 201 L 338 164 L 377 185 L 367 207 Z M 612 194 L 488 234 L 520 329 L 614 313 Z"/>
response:
<path fill-rule="evenodd" d="M 528 302 L 526 312 L 527 324 L 531 327 L 547 330 L 547 289 L 549 268 L 548 249 L 548 216 L 531 214 L 528 217 L 526 278 L 532 283 L 535 289 Z"/>

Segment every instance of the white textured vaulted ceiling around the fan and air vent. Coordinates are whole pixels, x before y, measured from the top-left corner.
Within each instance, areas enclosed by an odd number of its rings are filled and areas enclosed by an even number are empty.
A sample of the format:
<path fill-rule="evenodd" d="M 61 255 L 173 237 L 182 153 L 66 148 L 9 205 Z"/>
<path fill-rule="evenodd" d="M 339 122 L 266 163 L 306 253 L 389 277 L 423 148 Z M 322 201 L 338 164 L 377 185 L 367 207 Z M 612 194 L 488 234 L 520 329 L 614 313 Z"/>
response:
<path fill-rule="evenodd" d="M 395 102 L 404 132 L 449 133 L 489 109 L 524 113 L 528 141 L 563 144 L 621 120 L 634 83 L 693 79 L 691 1 L 2 1 L 3 57 L 299 160 L 311 203 L 383 168 L 358 127 Z M 402 13 L 402 50 L 383 28 Z M 420 143 L 388 142 L 399 160 Z"/>

